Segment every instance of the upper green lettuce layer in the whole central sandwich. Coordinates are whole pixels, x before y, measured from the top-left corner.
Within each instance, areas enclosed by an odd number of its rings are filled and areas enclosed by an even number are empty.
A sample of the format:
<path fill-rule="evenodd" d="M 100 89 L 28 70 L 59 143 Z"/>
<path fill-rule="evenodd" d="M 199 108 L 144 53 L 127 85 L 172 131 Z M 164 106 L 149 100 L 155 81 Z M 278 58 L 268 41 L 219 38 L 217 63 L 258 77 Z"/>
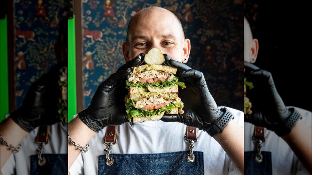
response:
<path fill-rule="evenodd" d="M 157 83 L 133 83 L 133 82 L 129 82 L 128 80 L 126 81 L 127 86 L 134 86 L 134 87 L 139 87 L 139 88 L 147 88 L 147 86 L 152 86 L 154 88 L 167 88 L 167 87 L 171 87 L 173 85 L 178 85 L 180 86 L 182 89 L 185 88 L 185 83 L 179 82 L 178 81 L 179 78 L 175 77 L 173 78 L 171 81 L 165 80 L 163 82 L 157 82 Z"/>

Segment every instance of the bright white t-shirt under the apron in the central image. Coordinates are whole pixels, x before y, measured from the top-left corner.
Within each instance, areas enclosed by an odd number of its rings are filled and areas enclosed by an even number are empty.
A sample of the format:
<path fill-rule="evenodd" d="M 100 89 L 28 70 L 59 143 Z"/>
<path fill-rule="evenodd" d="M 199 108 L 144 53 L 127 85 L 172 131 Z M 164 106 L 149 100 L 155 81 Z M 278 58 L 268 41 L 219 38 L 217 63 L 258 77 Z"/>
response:
<path fill-rule="evenodd" d="M 242 128 L 244 113 L 228 108 L 234 115 L 234 120 Z M 98 155 L 106 154 L 103 144 L 106 128 L 97 133 L 89 142 L 89 151 L 80 153 L 69 172 L 71 175 L 98 174 Z M 182 123 L 166 123 L 163 121 L 146 121 L 143 123 L 125 123 L 117 127 L 117 144 L 113 153 L 168 153 L 189 151 L 184 140 L 186 125 Z M 161 136 L 161 137 L 159 137 Z M 204 153 L 205 174 L 239 174 L 220 144 L 206 132 L 197 129 L 198 141 L 194 143 L 194 151 Z M 74 138 L 73 138 L 74 139 Z M 115 160 L 116 161 L 116 160 Z"/>

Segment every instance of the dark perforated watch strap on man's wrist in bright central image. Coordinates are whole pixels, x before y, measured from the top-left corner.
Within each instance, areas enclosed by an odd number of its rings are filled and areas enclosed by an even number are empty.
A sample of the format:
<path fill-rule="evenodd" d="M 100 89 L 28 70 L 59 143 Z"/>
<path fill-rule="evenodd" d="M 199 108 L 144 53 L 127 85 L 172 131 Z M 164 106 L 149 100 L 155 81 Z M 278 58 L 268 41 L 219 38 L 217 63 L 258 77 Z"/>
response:
<path fill-rule="evenodd" d="M 221 108 L 220 110 L 224 112 L 223 115 L 206 130 L 211 137 L 221 133 L 227 124 L 234 119 L 233 114 L 227 108 Z"/>

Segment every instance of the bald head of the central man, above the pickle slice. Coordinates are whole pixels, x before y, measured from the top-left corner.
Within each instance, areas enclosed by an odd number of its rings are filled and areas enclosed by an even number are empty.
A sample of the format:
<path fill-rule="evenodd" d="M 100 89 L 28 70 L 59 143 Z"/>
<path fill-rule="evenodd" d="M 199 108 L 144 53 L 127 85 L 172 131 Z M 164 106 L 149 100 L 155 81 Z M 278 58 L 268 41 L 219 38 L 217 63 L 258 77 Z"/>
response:
<path fill-rule="evenodd" d="M 160 7 L 149 7 L 139 11 L 130 20 L 127 41 L 122 44 L 126 62 L 146 54 L 157 47 L 172 59 L 186 63 L 191 43 L 184 38 L 180 20 L 172 12 Z"/>

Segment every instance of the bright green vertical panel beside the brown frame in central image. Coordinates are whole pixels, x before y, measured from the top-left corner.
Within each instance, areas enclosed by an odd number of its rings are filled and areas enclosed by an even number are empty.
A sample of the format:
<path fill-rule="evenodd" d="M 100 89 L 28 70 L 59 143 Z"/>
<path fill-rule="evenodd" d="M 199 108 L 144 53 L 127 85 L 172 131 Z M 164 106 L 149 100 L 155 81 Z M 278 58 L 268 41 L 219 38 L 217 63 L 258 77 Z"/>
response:
<path fill-rule="evenodd" d="M 68 122 L 77 113 L 75 16 L 68 20 Z"/>

